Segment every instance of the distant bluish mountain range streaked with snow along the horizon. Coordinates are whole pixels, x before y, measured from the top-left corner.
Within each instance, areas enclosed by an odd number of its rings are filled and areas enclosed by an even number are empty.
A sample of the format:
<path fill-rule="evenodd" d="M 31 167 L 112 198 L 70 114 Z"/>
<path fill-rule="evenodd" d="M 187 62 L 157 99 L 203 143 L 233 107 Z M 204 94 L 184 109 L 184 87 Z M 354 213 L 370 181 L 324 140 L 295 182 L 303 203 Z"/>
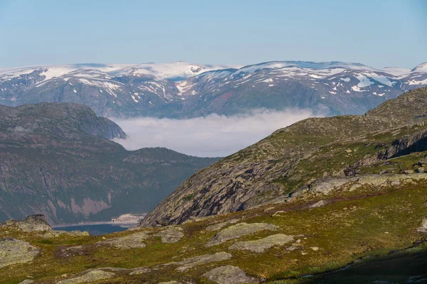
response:
<path fill-rule="evenodd" d="M 288 107 L 361 114 L 426 85 L 427 62 L 412 70 L 302 61 L 243 67 L 186 62 L 51 65 L 0 70 L 0 104 L 75 102 L 116 117 L 186 117 Z"/>

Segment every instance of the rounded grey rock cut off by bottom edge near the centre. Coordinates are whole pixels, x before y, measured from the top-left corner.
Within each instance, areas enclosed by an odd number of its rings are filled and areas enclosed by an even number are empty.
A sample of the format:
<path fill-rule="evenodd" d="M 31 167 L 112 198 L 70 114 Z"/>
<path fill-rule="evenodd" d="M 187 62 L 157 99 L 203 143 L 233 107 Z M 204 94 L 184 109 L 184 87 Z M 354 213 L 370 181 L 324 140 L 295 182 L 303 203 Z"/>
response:
<path fill-rule="evenodd" d="M 204 273 L 204 278 L 218 284 L 258 283 L 236 266 L 221 266 Z"/>

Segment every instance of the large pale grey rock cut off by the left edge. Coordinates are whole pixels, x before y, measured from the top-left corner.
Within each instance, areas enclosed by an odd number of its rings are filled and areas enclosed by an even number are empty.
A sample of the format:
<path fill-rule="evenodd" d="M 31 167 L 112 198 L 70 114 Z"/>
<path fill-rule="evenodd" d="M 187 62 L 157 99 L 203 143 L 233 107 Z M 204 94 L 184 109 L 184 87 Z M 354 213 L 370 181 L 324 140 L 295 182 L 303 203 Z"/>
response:
<path fill-rule="evenodd" d="M 19 239 L 0 239 L 0 268 L 14 263 L 26 263 L 38 256 L 39 250 Z"/>

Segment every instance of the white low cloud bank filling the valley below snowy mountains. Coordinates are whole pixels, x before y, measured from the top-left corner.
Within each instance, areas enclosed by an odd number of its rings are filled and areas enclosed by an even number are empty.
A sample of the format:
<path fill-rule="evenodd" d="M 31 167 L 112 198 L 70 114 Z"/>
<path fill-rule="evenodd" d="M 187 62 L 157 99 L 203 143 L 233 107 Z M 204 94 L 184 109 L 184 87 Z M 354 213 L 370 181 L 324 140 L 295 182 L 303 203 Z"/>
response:
<path fill-rule="evenodd" d="M 255 110 L 248 114 L 211 114 L 194 119 L 113 119 L 127 133 L 116 139 L 128 150 L 166 147 L 199 157 L 226 156 L 241 150 L 273 131 L 314 116 L 310 110 Z"/>

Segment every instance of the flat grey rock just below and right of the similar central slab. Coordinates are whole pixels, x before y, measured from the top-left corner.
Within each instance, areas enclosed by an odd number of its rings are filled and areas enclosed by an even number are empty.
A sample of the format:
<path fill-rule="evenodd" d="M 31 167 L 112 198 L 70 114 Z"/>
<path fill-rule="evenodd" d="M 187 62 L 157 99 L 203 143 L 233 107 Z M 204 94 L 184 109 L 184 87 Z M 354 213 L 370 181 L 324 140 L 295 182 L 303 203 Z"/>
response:
<path fill-rule="evenodd" d="M 293 236 L 275 234 L 255 241 L 238 241 L 231 245 L 228 249 L 236 249 L 240 251 L 248 250 L 255 253 L 262 253 L 265 250 L 272 248 L 273 246 L 283 246 L 288 244 L 290 241 L 293 241 Z"/>

